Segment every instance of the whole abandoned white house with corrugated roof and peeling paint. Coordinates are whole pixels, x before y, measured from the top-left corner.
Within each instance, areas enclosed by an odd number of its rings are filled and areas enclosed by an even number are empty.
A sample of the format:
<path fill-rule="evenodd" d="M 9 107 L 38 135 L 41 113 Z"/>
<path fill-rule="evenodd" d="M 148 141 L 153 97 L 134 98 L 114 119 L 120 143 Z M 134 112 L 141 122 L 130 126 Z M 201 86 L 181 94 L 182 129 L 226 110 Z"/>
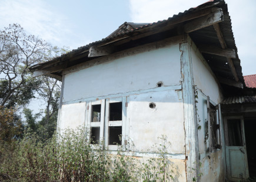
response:
<path fill-rule="evenodd" d="M 85 127 L 113 152 L 131 140 L 138 157 L 154 154 L 165 135 L 175 181 L 239 181 L 255 171 L 247 160 L 255 143 L 245 141 L 255 90 L 245 85 L 225 1 L 155 23 L 125 22 L 31 70 L 62 80 L 58 132 Z"/>

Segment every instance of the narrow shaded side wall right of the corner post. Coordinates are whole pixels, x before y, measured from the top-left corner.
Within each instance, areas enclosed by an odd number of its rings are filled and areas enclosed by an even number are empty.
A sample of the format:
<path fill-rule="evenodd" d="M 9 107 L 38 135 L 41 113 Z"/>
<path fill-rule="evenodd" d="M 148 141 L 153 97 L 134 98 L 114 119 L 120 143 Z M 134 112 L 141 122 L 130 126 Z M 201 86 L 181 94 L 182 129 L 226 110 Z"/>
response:
<path fill-rule="evenodd" d="M 206 139 L 207 123 L 207 96 L 214 105 L 221 102 L 222 93 L 217 81 L 214 78 L 207 62 L 202 58 L 201 53 L 195 45 L 191 46 L 192 71 L 194 77 L 194 85 L 197 89 L 197 124 L 201 127 L 198 129 L 198 148 L 200 154 L 200 173 L 201 181 L 224 181 L 224 169 L 222 166 L 222 151 L 214 150 L 209 153 L 209 139 Z"/>

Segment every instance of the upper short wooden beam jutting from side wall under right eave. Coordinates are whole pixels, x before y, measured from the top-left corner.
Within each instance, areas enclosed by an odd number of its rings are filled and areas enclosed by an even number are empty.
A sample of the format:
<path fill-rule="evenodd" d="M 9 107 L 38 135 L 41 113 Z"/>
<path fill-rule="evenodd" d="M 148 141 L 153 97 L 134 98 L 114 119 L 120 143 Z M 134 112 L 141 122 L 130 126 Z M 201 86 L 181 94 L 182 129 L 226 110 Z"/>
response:
<path fill-rule="evenodd" d="M 201 52 L 208 53 L 211 55 L 223 56 L 227 58 L 236 58 L 234 49 L 221 49 L 218 46 L 212 45 L 199 45 L 198 49 Z"/>

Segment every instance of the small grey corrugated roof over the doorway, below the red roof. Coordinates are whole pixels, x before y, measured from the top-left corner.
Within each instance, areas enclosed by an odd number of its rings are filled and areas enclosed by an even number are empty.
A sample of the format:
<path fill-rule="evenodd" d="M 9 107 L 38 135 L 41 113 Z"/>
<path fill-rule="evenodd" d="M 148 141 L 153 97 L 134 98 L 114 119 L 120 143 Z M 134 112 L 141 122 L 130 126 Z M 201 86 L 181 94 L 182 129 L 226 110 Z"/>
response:
<path fill-rule="evenodd" d="M 222 105 L 231 105 L 239 103 L 256 103 L 256 96 L 233 96 L 222 100 Z"/>

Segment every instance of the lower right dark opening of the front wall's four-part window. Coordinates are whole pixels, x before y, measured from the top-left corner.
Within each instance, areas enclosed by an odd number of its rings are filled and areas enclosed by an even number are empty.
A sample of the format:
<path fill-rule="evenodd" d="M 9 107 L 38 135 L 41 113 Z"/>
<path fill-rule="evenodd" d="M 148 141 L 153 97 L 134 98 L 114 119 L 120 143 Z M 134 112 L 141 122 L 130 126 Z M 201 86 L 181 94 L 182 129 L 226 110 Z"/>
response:
<path fill-rule="evenodd" d="M 122 126 L 109 126 L 109 144 L 122 144 Z"/>

